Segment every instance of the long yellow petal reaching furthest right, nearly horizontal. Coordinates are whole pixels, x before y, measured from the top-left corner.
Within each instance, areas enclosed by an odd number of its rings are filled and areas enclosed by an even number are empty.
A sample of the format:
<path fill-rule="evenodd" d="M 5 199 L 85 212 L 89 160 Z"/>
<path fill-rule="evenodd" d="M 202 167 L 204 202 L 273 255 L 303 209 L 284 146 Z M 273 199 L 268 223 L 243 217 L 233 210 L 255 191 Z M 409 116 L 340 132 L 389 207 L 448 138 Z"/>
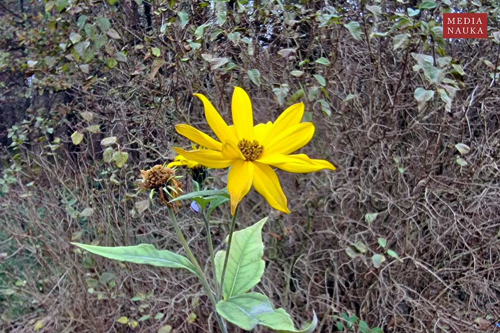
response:
<path fill-rule="evenodd" d="M 281 170 L 305 174 L 323 169 L 336 170 L 335 165 L 324 159 L 311 159 L 306 154 L 282 155 L 273 154 L 259 158 L 258 162 L 273 165 Z"/>

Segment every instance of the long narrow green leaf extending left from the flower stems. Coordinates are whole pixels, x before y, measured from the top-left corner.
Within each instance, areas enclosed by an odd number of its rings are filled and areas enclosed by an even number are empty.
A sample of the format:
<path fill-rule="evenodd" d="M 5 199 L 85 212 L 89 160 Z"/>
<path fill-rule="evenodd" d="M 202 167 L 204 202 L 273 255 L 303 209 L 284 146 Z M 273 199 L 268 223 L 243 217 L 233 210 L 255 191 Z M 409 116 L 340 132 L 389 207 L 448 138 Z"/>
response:
<path fill-rule="evenodd" d="M 105 258 L 160 267 L 185 268 L 198 276 L 196 268 L 194 268 L 187 258 L 168 250 L 157 250 L 151 244 L 116 247 L 95 246 L 81 243 L 71 244 Z"/>

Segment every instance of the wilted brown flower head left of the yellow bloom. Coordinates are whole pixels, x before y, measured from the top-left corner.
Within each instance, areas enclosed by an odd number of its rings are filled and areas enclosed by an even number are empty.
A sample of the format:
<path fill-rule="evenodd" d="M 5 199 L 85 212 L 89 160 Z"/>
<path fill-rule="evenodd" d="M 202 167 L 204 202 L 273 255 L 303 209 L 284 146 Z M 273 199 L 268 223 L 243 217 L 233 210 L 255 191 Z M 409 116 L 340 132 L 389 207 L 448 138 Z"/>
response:
<path fill-rule="evenodd" d="M 165 193 L 176 198 L 182 192 L 182 183 L 178 180 L 180 176 L 175 176 L 175 171 L 164 165 L 157 164 L 149 170 L 141 170 L 142 182 L 139 187 L 147 190 L 157 190 L 162 202 L 168 203 Z"/>

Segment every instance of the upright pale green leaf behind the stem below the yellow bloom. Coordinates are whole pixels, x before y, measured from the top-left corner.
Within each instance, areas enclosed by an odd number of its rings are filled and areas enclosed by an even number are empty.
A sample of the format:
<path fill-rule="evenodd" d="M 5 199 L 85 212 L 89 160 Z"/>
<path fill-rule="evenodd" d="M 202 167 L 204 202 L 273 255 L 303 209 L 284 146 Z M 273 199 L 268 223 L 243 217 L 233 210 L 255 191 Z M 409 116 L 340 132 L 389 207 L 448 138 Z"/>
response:
<path fill-rule="evenodd" d="M 262 227 L 266 220 L 267 217 L 255 225 L 233 234 L 223 286 L 226 300 L 246 293 L 261 281 L 265 266 L 262 259 L 264 255 Z M 226 251 L 218 251 L 215 255 L 215 267 L 219 282 L 221 281 L 225 256 Z"/>

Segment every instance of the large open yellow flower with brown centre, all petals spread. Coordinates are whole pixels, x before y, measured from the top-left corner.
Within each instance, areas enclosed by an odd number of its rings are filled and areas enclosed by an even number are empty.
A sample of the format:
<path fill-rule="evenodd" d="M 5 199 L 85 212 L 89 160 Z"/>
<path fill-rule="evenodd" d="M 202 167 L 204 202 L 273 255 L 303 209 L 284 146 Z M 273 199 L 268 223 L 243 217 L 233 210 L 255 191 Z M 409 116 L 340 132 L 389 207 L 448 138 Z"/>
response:
<path fill-rule="evenodd" d="M 229 126 L 207 97 L 194 95 L 202 100 L 207 122 L 219 141 L 192 126 L 179 124 L 175 127 L 179 134 L 207 149 L 188 151 L 174 147 L 174 150 L 208 168 L 231 167 L 227 189 L 233 215 L 252 186 L 273 208 L 290 212 L 278 176 L 271 166 L 292 173 L 335 170 L 334 165 L 326 160 L 291 154 L 305 146 L 314 135 L 314 125 L 302 123 L 304 103 L 288 107 L 274 123 L 254 126 L 252 102 L 243 89 L 235 87 L 231 105 L 234 125 Z"/>

